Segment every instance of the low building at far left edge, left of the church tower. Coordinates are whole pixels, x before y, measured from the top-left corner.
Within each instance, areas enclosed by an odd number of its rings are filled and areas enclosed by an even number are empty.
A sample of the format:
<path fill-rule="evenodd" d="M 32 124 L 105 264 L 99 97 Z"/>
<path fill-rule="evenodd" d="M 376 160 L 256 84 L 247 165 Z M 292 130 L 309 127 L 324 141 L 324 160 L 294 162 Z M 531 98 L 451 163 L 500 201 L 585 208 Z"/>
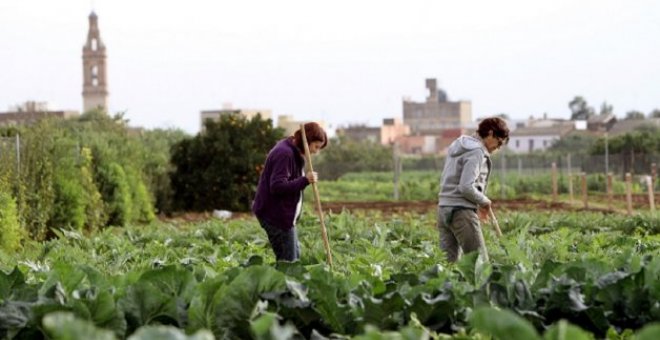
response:
<path fill-rule="evenodd" d="M 51 110 L 46 102 L 27 101 L 0 112 L 0 126 L 29 125 L 48 117 L 73 118 L 80 113 L 73 110 Z"/>

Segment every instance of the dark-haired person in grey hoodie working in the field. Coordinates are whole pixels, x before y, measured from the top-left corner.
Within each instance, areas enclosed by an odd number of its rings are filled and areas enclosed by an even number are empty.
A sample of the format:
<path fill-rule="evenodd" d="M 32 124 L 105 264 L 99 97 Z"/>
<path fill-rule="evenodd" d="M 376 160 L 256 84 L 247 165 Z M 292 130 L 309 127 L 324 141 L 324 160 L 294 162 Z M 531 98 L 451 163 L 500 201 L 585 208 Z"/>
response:
<path fill-rule="evenodd" d="M 499 117 L 479 123 L 475 136 L 460 136 L 449 145 L 438 194 L 440 248 L 447 260 L 484 246 L 480 220 L 488 220 L 491 200 L 486 196 L 490 155 L 509 140 L 509 128 Z"/>

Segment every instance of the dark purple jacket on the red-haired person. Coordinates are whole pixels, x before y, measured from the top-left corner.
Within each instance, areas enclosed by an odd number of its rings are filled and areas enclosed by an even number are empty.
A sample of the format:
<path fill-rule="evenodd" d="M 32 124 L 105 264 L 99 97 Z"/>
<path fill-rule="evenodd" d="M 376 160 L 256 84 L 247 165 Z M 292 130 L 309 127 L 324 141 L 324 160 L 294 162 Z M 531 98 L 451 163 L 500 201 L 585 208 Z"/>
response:
<path fill-rule="evenodd" d="M 309 185 L 303 176 L 305 161 L 291 139 L 283 139 L 268 153 L 259 178 L 252 212 L 258 219 L 278 227 L 291 229 L 296 205 L 303 189 Z"/>

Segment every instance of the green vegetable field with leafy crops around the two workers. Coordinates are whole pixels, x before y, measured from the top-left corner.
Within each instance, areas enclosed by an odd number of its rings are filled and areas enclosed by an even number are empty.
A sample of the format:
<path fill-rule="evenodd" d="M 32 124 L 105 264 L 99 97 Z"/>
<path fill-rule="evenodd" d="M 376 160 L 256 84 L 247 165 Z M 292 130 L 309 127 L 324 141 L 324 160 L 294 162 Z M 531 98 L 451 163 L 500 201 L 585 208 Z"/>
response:
<path fill-rule="evenodd" d="M 496 199 L 504 235 L 483 225 L 490 262 L 450 264 L 433 175 L 404 177 L 402 201 L 387 176 L 367 176 L 319 185 L 332 268 L 311 190 L 296 263 L 275 262 L 247 213 L 60 230 L 0 252 L 0 337 L 660 338 L 660 216 L 641 193 L 632 216 L 602 195 L 587 209 L 565 193 Z"/>

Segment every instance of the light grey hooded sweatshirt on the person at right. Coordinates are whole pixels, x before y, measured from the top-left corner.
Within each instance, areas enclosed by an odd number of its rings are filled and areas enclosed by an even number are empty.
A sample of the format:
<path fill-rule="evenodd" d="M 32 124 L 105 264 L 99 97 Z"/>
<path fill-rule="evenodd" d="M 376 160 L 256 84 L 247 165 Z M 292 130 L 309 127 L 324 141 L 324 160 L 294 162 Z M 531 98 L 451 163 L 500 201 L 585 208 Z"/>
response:
<path fill-rule="evenodd" d="M 490 204 L 486 197 L 490 169 L 490 153 L 481 139 L 457 138 L 447 152 L 438 205 L 477 209 Z"/>

